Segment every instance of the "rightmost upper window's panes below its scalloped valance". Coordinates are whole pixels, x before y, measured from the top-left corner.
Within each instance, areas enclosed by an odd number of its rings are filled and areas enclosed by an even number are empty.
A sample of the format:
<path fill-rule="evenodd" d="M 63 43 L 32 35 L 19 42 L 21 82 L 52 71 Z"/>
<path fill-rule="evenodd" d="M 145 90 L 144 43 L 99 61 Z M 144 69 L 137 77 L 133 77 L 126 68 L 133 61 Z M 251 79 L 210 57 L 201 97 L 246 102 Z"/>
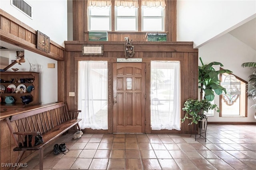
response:
<path fill-rule="evenodd" d="M 142 31 L 164 31 L 164 8 L 142 6 Z"/>

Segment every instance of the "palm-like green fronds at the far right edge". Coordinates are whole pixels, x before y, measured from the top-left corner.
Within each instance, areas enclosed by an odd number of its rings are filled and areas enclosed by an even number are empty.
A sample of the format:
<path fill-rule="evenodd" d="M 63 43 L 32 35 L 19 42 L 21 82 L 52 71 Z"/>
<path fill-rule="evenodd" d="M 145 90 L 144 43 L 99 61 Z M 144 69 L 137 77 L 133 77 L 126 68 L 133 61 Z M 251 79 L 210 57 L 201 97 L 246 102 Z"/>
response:
<path fill-rule="evenodd" d="M 243 63 L 242 67 L 250 67 L 253 73 L 249 76 L 249 81 L 246 86 L 247 95 L 249 99 L 256 102 L 256 62 Z M 256 109 L 256 104 L 252 105 Z"/>

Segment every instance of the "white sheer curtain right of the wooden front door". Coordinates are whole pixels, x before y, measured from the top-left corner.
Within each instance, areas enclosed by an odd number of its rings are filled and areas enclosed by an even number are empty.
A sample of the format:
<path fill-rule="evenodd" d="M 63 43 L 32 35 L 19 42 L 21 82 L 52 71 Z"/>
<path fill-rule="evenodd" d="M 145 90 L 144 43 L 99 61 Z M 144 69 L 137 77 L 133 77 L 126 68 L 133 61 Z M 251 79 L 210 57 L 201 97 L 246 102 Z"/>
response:
<path fill-rule="evenodd" d="M 180 62 L 151 62 L 151 128 L 180 130 Z"/>

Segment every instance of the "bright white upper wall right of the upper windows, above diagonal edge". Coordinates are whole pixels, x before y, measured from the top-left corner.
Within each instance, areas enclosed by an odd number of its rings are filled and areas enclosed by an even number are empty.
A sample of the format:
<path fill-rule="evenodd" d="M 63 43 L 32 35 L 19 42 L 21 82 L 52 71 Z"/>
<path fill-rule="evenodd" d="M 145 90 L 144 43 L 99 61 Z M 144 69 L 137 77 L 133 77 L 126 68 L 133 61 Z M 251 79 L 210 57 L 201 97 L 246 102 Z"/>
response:
<path fill-rule="evenodd" d="M 255 0 L 178 0 L 177 41 L 198 48 L 255 16 Z"/>

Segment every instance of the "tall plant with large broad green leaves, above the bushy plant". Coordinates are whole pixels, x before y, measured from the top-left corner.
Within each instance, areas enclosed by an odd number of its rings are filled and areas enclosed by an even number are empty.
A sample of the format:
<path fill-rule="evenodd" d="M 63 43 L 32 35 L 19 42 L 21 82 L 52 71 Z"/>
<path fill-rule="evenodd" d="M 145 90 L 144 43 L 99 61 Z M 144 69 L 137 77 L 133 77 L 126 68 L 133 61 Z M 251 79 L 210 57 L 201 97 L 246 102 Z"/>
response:
<path fill-rule="evenodd" d="M 201 57 L 199 58 L 202 66 L 198 66 L 198 88 L 200 88 L 200 99 L 206 99 L 207 101 L 214 100 L 214 92 L 217 95 L 221 95 L 222 92 L 226 94 L 226 89 L 220 86 L 220 80 L 218 78 L 218 74 L 220 73 L 231 73 L 230 70 L 215 70 L 212 66 L 213 65 L 220 65 L 223 64 L 219 62 L 211 62 L 209 64 L 204 64 L 202 62 Z M 204 98 L 203 98 L 203 91 L 204 91 Z"/>

